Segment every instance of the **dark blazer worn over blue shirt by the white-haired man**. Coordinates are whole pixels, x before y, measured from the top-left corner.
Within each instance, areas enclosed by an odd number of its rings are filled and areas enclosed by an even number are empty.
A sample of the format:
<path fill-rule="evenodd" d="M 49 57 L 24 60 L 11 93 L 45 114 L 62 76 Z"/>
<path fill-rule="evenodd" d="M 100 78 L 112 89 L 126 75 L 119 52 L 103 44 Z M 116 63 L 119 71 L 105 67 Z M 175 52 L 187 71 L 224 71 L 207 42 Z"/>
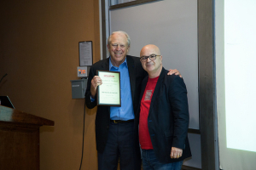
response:
<path fill-rule="evenodd" d="M 130 76 L 133 110 L 134 110 L 134 114 L 136 114 L 136 111 L 139 106 L 139 94 L 141 90 L 141 84 L 142 84 L 143 78 L 146 77 L 148 73 L 143 70 L 143 66 L 138 57 L 126 55 L 126 61 L 127 61 L 129 76 Z M 85 92 L 85 104 L 89 109 L 92 109 L 97 105 L 96 100 L 94 102 L 90 101 L 90 82 L 91 82 L 91 79 L 96 76 L 96 70 L 109 71 L 109 58 L 102 59 L 90 67 L 90 73 L 89 73 L 87 88 Z M 125 104 L 121 104 L 121 105 L 125 105 Z M 107 143 L 109 122 L 110 122 L 110 107 L 98 106 L 97 112 L 96 112 L 96 121 L 95 121 L 96 149 L 100 153 L 103 152 L 105 145 Z"/>

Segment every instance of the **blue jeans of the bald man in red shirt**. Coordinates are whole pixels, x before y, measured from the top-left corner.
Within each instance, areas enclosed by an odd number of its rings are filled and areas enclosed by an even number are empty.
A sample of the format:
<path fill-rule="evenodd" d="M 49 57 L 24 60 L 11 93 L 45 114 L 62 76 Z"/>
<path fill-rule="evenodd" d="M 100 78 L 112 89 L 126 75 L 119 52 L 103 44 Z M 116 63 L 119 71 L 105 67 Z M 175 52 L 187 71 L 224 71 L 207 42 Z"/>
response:
<path fill-rule="evenodd" d="M 154 150 L 142 150 L 142 157 L 143 170 L 180 170 L 183 165 L 183 161 L 161 163 L 154 155 Z"/>

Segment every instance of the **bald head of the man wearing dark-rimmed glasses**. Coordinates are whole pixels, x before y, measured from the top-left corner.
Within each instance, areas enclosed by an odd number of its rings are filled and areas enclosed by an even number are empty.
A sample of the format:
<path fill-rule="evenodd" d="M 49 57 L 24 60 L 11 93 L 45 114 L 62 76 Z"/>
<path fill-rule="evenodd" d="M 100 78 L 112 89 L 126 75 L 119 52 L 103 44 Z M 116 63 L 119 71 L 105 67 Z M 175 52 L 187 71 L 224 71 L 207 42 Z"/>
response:
<path fill-rule="evenodd" d="M 160 54 L 160 49 L 154 44 L 148 44 L 142 48 L 140 56 L 147 59 L 141 59 L 141 62 L 143 69 L 148 72 L 149 78 L 159 77 L 160 72 L 162 71 L 162 56 Z"/>

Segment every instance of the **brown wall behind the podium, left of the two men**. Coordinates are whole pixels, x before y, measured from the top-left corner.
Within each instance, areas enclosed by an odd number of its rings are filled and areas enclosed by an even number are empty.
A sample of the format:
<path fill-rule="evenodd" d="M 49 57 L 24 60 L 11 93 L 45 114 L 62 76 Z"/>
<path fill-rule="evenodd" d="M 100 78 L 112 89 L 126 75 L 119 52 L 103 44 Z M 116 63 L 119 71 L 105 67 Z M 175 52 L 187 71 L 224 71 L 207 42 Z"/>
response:
<path fill-rule="evenodd" d="M 84 99 L 72 99 L 79 42 L 93 42 L 100 59 L 99 4 L 95 0 L 18 1 L 0 6 L 0 95 L 15 108 L 55 121 L 40 128 L 41 170 L 79 169 Z M 85 115 L 82 169 L 96 169 L 94 120 Z"/>

